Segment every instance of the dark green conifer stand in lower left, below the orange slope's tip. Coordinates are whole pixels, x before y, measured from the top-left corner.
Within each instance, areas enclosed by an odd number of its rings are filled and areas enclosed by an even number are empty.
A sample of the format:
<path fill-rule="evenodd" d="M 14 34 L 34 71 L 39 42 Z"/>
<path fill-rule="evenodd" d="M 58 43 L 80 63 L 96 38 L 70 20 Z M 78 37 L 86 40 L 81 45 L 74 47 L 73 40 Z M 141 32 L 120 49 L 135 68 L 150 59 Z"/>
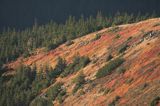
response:
<path fill-rule="evenodd" d="M 62 83 L 49 89 L 46 97 L 48 98 L 47 101 L 43 98 L 36 98 L 36 96 L 41 93 L 41 90 L 54 84 L 57 77 L 67 77 L 69 74 L 85 67 L 88 63 L 88 57 L 75 56 L 73 63 L 68 65 L 65 60 L 58 58 L 58 63 L 54 69 L 45 65 L 40 69 L 40 72 L 37 71 L 36 65 L 33 68 L 20 65 L 13 77 L 0 77 L 0 106 L 45 106 L 46 104 L 52 104 L 51 101 L 56 99 L 62 103 L 66 94 L 65 89 L 60 89 L 63 86 Z M 74 70 L 68 70 L 70 68 Z M 34 99 L 35 101 L 33 101 Z"/>

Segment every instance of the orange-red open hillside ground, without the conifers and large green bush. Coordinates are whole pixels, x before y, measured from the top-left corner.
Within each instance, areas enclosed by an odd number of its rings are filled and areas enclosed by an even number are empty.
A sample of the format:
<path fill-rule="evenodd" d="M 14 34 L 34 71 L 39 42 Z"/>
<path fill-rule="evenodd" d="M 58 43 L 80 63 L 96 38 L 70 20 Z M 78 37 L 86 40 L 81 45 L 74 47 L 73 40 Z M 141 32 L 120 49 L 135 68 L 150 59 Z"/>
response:
<path fill-rule="evenodd" d="M 29 66 L 49 63 L 54 67 L 58 57 L 70 63 L 77 54 L 88 56 L 91 62 L 86 67 L 68 77 L 57 78 L 57 82 L 64 82 L 67 89 L 68 96 L 62 105 L 147 106 L 155 97 L 160 96 L 160 25 L 157 26 L 157 23 L 160 23 L 159 18 L 106 28 L 77 38 L 70 45 L 62 44 L 48 53 L 40 52 L 6 66 L 15 69 L 23 62 Z M 118 30 L 114 31 L 117 28 Z M 96 34 L 101 37 L 93 40 Z M 112 58 L 108 60 L 107 57 L 110 55 Z M 98 79 L 95 77 L 99 69 L 119 56 L 125 59 L 122 65 L 106 77 Z M 73 95 L 72 80 L 82 71 L 86 83 Z M 45 91 L 47 90 L 43 93 Z M 54 104 L 59 105 L 56 101 Z"/>

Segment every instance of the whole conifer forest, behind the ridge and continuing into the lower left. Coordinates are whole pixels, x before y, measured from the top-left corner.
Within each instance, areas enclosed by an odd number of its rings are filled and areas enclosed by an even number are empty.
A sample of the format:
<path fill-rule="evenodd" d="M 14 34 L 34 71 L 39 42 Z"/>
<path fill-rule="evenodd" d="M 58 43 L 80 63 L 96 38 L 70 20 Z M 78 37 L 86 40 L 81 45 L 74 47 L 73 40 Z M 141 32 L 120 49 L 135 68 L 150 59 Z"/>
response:
<path fill-rule="evenodd" d="M 36 66 L 32 69 L 21 65 L 14 76 L 3 76 L 3 64 L 16 60 L 19 56 L 24 58 L 32 55 L 37 48 L 45 47 L 47 51 L 53 50 L 62 43 L 84 36 L 100 29 L 134 23 L 141 20 L 156 17 L 155 15 L 134 15 L 117 13 L 114 16 L 105 17 L 98 12 L 96 17 L 90 16 L 79 20 L 70 16 L 65 24 L 57 24 L 53 21 L 39 26 L 35 22 L 32 28 L 23 31 L 9 29 L 0 33 L 0 106 L 28 106 L 41 90 L 53 84 L 57 77 L 66 77 L 85 67 L 89 62 L 88 57 L 75 57 L 73 63 L 67 65 L 65 60 L 59 58 L 54 69 L 46 65 L 37 73 Z M 63 84 L 57 85 L 58 88 Z M 61 92 L 63 91 L 63 92 Z M 59 99 L 62 102 L 64 89 L 58 91 L 53 87 L 49 98 Z M 53 93 L 54 92 L 54 93 Z M 61 92 L 58 94 L 57 92 Z M 54 95 L 52 95 L 54 94 Z M 42 99 L 42 98 L 41 98 Z M 40 100 L 39 106 L 48 101 Z"/>

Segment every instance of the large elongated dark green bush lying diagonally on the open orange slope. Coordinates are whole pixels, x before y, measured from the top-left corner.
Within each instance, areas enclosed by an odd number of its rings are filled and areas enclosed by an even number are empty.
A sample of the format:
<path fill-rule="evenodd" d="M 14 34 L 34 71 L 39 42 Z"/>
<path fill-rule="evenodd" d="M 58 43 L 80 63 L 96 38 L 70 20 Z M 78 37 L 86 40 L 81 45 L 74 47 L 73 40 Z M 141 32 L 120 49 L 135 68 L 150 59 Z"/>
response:
<path fill-rule="evenodd" d="M 120 66 L 124 62 L 123 58 L 116 58 L 102 67 L 96 74 L 96 78 L 105 77 L 106 75 L 110 74 L 114 69 Z"/>

